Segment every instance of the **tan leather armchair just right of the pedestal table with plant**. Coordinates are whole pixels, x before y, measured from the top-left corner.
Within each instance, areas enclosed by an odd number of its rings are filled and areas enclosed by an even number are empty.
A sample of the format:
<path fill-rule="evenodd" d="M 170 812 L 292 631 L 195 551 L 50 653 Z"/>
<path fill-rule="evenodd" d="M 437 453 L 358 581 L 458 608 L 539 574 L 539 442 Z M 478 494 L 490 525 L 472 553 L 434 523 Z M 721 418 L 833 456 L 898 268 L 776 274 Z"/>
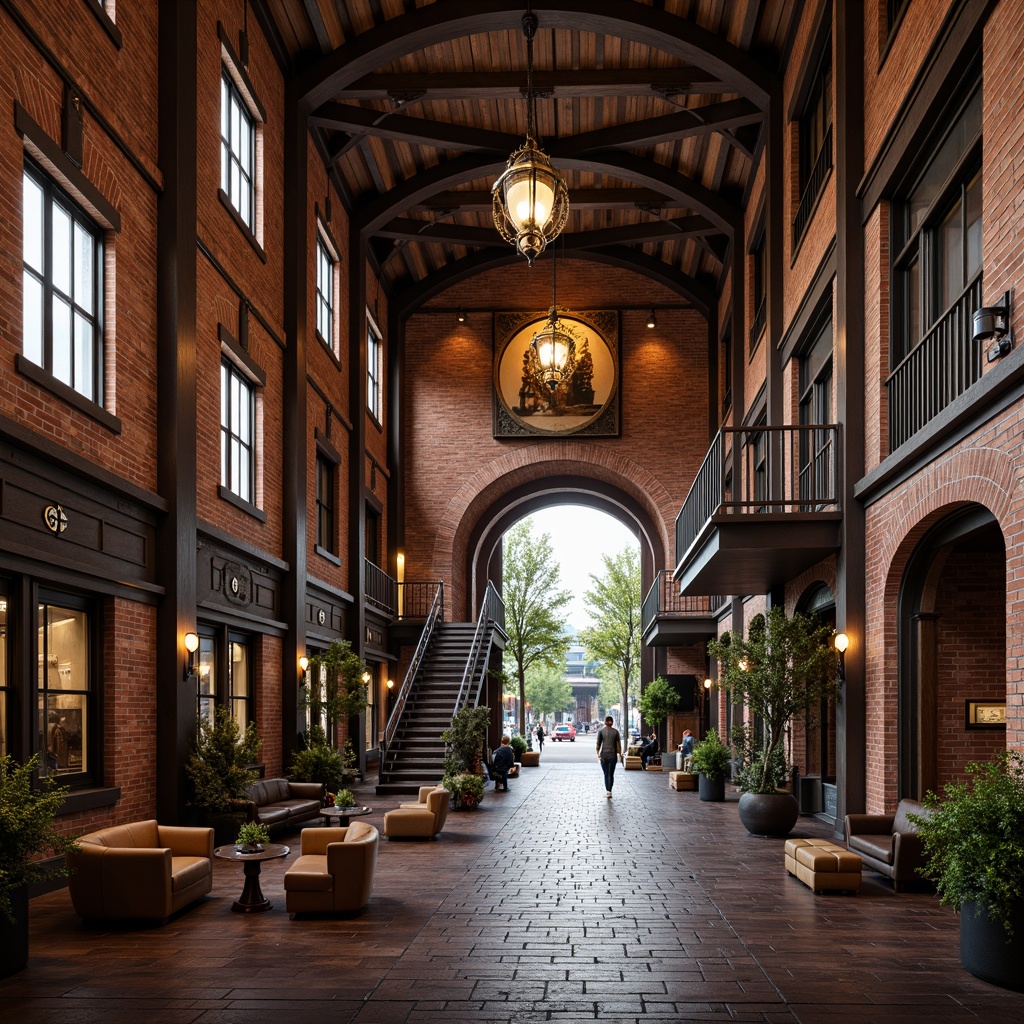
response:
<path fill-rule="evenodd" d="M 337 913 L 367 905 L 380 833 L 366 821 L 346 828 L 303 828 L 299 858 L 285 872 L 289 913 Z"/>

